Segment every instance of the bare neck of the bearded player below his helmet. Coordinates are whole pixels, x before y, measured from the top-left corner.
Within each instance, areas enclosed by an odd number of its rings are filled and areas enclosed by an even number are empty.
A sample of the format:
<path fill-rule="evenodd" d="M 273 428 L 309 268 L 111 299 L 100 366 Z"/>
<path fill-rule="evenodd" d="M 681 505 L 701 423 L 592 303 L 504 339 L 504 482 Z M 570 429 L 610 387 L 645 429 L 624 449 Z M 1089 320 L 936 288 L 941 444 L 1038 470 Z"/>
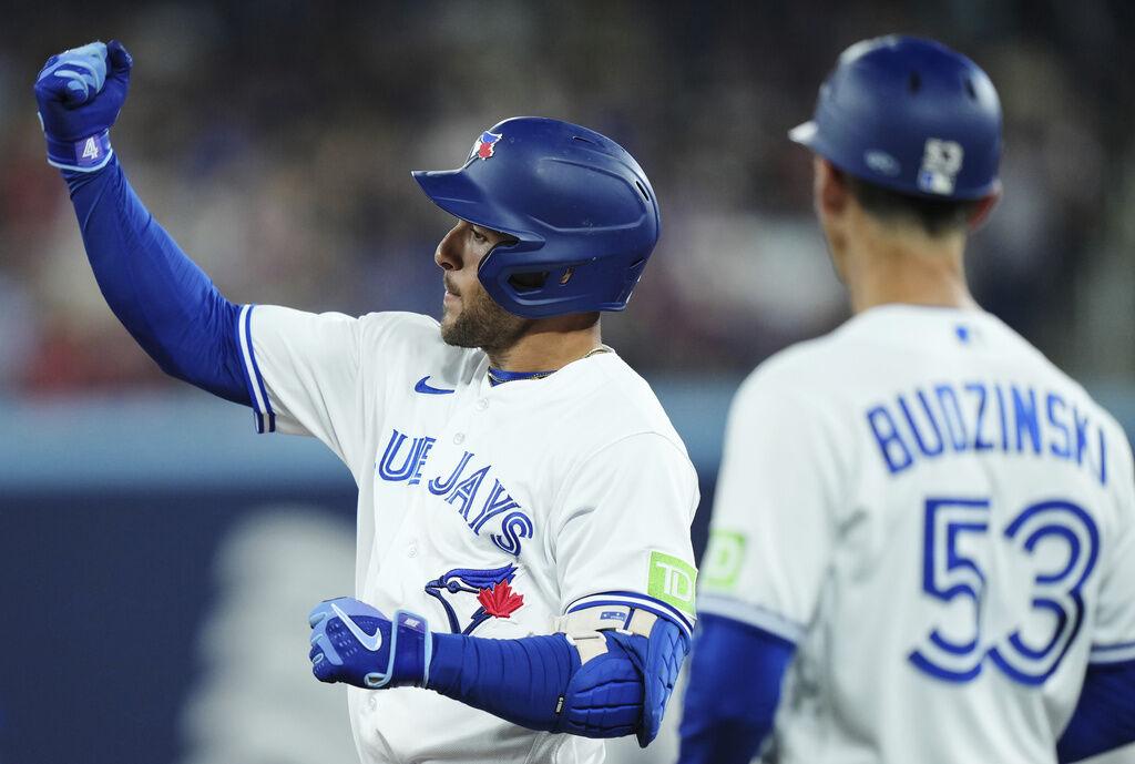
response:
<path fill-rule="evenodd" d="M 597 313 L 572 313 L 532 321 L 510 347 L 488 350 L 489 364 L 502 371 L 554 371 L 603 344 Z"/>

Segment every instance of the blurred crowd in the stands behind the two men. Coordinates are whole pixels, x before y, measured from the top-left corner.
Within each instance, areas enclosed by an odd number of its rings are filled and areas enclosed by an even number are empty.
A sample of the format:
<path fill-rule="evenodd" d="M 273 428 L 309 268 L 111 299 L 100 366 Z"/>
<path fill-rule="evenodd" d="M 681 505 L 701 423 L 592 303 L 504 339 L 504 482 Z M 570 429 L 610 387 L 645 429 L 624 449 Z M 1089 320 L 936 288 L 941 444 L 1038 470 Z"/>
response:
<path fill-rule="evenodd" d="M 234 301 L 435 313 L 447 227 L 411 169 L 459 166 L 519 114 L 622 142 L 663 238 L 625 316 L 645 372 L 741 373 L 846 316 L 785 132 L 838 53 L 936 36 L 992 75 L 1004 200 L 969 259 L 981 302 L 1090 377 L 1135 371 L 1135 11 L 1121 0 L 908 2 L 52 2 L 0 39 L 0 389 L 171 384 L 119 328 L 43 161 L 42 61 L 121 39 L 114 143 L 140 195 Z"/>

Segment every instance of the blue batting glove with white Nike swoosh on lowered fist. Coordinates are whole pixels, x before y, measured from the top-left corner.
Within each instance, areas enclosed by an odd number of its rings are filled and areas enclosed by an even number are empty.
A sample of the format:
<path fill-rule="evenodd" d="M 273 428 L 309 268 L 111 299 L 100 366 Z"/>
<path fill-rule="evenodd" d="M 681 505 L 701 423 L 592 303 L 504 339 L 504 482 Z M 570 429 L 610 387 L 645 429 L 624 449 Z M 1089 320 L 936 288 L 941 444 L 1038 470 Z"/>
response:
<path fill-rule="evenodd" d="M 354 597 L 327 599 L 308 616 L 311 672 L 321 682 L 367 689 L 424 687 L 434 647 L 426 619 L 397 611 L 394 620 Z"/>

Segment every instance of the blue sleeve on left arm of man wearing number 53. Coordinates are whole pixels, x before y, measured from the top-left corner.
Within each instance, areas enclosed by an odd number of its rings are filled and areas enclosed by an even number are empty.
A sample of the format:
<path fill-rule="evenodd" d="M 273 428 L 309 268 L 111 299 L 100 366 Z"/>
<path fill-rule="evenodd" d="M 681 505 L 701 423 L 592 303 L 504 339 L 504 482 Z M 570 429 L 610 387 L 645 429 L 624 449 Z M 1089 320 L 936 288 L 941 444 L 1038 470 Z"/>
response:
<path fill-rule="evenodd" d="M 690 657 L 680 764 L 748 764 L 773 728 L 796 646 L 732 619 L 703 613 Z"/>

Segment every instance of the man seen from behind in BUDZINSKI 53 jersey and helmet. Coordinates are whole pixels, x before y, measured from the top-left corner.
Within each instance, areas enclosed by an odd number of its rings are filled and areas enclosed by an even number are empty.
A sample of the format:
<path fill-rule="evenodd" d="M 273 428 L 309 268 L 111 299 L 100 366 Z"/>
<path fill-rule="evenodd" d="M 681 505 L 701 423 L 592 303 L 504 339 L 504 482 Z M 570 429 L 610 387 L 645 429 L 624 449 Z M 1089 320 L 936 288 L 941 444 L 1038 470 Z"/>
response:
<path fill-rule="evenodd" d="M 993 84 L 936 42 L 868 40 L 791 138 L 855 316 L 733 402 L 682 764 L 768 738 L 807 764 L 1135 739 L 1130 446 L 966 286 L 1000 193 Z"/>

